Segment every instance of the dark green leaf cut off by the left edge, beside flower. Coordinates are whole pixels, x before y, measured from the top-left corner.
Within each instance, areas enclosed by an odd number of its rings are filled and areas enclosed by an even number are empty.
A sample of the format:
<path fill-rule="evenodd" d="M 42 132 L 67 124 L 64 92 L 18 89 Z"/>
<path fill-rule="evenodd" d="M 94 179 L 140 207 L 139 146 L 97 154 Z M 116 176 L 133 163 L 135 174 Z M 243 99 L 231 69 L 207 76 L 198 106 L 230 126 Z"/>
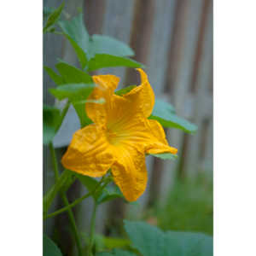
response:
<path fill-rule="evenodd" d="M 43 143 L 49 144 L 55 137 L 57 126 L 61 119 L 61 111 L 58 108 L 44 105 L 43 108 Z"/>

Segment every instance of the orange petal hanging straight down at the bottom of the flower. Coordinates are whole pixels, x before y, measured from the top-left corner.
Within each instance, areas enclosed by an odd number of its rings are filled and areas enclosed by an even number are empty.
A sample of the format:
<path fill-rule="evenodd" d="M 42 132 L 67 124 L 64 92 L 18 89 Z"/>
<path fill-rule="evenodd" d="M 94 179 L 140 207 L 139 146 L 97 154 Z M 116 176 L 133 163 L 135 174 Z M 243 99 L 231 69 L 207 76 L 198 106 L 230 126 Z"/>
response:
<path fill-rule="evenodd" d="M 111 167 L 114 182 L 127 201 L 136 201 L 147 186 L 147 170 L 143 152 L 129 146 L 117 147 L 116 162 Z"/>

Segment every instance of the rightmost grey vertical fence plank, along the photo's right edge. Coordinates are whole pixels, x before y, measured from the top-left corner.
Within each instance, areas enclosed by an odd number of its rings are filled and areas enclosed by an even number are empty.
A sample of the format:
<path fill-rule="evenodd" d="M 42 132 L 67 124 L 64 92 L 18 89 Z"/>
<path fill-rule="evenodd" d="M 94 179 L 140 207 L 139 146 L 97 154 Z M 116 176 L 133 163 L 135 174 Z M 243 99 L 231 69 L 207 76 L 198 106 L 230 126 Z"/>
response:
<path fill-rule="evenodd" d="M 204 119 L 204 98 L 208 94 L 209 84 L 211 83 L 212 73 L 212 3 L 207 6 L 207 20 L 204 29 L 204 37 L 201 47 L 201 55 L 198 73 L 195 79 L 195 108 L 194 122 L 198 125 L 198 131 L 193 137 L 189 137 L 187 156 L 184 171 L 190 176 L 195 177 L 199 171 L 199 152 L 201 142 L 202 122 Z"/>

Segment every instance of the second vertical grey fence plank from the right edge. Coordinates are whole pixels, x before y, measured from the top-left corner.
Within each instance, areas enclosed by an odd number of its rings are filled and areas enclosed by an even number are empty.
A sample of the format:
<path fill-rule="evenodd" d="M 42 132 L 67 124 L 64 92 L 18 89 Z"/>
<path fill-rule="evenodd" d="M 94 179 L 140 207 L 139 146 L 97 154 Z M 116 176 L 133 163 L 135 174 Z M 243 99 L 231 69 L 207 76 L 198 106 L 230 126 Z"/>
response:
<path fill-rule="evenodd" d="M 177 114 L 185 118 L 185 102 L 189 94 L 193 74 L 193 64 L 195 60 L 195 49 L 198 41 L 203 0 L 189 0 L 179 3 L 177 10 L 176 28 L 174 42 L 170 53 L 170 66 L 167 75 L 167 90 L 169 90 L 172 104 L 176 108 Z M 172 129 L 168 133 L 169 142 L 178 149 L 179 159 L 182 157 L 183 131 Z M 166 201 L 166 190 L 170 189 L 173 177 L 180 160 L 171 165 L 165 164 L 166 175 L 161 181 L 160 198 Z M 171 173 L 170 173 L 171 172 Z"/>

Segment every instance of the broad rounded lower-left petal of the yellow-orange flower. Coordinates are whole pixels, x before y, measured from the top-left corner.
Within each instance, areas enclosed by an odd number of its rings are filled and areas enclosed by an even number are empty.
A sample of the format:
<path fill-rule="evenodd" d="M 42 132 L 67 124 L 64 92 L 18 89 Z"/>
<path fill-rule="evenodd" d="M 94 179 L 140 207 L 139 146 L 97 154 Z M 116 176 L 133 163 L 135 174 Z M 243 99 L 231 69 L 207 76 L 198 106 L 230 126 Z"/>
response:
<path fill-rule="evenodd" d="M 113 164 L 113 154 L 105 131 L 100 126 L 88 125 L 76 131 L 62 165 L 90 177 L 101 177 Z"/>

